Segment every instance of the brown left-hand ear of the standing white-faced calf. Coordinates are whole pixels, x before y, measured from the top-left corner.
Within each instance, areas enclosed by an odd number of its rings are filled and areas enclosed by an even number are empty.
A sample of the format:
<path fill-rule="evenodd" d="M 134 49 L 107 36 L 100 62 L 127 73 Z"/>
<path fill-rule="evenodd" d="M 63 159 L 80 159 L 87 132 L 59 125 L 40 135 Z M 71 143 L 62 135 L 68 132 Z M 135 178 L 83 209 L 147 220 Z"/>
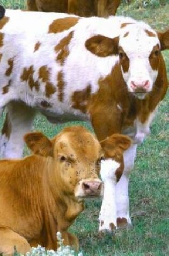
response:
<path fill-rule="evenodd" d="M 87 50 L 99 57 L 106 57 L 118 53 L 119 37 L 109 38 L 98 34 L 89 38 L 85 46 Z"/>

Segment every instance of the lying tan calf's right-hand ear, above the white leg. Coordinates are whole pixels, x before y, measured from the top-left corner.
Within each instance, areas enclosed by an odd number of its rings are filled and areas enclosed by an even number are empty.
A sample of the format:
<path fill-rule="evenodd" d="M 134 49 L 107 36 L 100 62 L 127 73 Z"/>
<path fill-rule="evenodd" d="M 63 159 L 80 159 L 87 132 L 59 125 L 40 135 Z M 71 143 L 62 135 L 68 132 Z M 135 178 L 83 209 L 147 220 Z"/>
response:
<path fill-rule="evenodd" d="M 121 134 L 113 134 L 100 142 L 104 150 L 106 158 L 115 158 L 123 154 L 123 152 L 131 146 L 131 139 Z"/>

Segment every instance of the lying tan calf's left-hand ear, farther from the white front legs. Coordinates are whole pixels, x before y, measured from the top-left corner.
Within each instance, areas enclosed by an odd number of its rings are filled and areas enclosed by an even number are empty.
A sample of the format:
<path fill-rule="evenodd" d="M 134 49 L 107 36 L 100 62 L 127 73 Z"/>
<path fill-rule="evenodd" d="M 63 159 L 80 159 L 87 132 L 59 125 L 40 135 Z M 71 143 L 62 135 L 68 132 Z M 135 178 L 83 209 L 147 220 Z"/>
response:
<path fill-rule="evenodd" d="M 24 141 L 34 154 L 45 157 L 53 156 L 53 144 L 41 132 L 25 134 Z"/>

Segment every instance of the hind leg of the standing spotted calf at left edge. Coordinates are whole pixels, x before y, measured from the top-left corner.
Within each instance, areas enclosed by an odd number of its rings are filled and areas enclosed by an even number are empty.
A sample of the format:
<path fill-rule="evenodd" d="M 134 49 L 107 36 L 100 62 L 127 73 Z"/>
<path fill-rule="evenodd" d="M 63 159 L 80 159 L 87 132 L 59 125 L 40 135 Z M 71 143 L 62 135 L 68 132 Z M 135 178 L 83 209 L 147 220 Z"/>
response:
<path fill-rule="evenodd" d="M 35 110 L 21 102 L 10 102 L 0 137 L 0 156 L 20 158 L 23 153 L 23 136 L 32 126 Z"/>

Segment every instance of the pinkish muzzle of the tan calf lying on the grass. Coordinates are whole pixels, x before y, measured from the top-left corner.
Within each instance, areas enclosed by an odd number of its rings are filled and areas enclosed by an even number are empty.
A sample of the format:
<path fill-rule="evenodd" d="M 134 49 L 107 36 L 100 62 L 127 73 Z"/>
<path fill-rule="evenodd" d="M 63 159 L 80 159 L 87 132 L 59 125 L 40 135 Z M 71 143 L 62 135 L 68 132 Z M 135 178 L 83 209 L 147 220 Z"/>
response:
<path fill-rule="evenodd" d="M 82 189 L 86 195 L 97 195 L 101 192 L 102 182 L 101 181 L 84 181 L 82 183 Z"/>

